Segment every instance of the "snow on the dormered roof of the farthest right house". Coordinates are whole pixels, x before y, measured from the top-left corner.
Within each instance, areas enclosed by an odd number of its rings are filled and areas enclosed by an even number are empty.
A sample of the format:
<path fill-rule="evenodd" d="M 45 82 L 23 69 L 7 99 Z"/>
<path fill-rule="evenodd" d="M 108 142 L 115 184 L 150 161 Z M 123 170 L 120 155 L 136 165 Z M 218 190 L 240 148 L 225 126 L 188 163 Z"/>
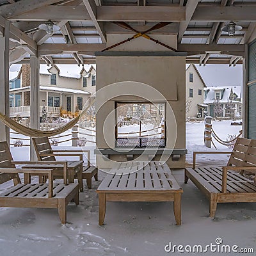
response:
<path fill-rule="evenodd" d="M 216 86 L 216 87 L 207 87 L 205 91 L 208 91 L 206 99 L 204 100 L 205 104 L 214 102 L 214 95 L 217 90 L 222 91 L 223 95 L 220 99 L 220 102 L 228 102 L 231 89 L 233 93 L 236 93 L 237 97 L 241 99 L 241 86 Z M 242 99 L 241 99 L 242 100 Z"/>

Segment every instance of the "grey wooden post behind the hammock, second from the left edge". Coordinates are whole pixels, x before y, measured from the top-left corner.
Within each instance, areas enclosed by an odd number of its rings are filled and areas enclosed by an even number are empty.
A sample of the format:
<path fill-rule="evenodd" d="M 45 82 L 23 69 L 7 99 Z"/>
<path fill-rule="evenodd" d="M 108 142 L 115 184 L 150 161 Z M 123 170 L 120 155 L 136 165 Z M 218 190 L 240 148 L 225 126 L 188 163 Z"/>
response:
<path fill-rule="evenodd" d="M 34 129 L 40 129 L 39 58 L 37 56 L 30 56 L 30 68 L 30 127 Z M 37 161 L 32 140 L 30 141 L 30 160 Z"/>

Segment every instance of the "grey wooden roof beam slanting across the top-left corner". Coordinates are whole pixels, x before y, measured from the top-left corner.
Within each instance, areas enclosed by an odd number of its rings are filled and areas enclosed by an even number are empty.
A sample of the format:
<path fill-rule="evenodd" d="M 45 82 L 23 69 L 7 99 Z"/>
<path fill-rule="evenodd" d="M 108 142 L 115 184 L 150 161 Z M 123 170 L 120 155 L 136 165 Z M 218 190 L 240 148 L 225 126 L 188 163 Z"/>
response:
<path fill-rule="evenodd" d="M 20 0 L 6 6 L 1 6 L 0 15 L 7 19 L 22 13 L 31 12 L 36 8 L 41 8 L 58 1 L 60 0 Z"/>

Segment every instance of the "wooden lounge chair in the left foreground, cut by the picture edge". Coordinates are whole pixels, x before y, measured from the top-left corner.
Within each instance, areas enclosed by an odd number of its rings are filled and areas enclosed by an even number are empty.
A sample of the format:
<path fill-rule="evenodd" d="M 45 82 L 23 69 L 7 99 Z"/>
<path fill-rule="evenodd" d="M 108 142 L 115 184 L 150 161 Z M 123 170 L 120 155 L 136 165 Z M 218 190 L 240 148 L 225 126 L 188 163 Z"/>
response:
<path fill-rule="evenodd" d="M 55 183 L 51 169 L 17 169 L 6 141 L 0 142 L 0 184 L 13 180 L 14 186 L 0 193 L 0 207 L 56 208 L 61 223 L 67 220 L 67 204 L 74 200 L 79 204 L 77 184 L 67 184 L 67 162 L 63 163 L 64 183 Z M 31 162 L 32 164 L 38 162 Z M 43 162 L 44 163 L 44 162 Z M 47 175 L 49 183 L 21 184 L 18 173 L 27 175 Z"/>

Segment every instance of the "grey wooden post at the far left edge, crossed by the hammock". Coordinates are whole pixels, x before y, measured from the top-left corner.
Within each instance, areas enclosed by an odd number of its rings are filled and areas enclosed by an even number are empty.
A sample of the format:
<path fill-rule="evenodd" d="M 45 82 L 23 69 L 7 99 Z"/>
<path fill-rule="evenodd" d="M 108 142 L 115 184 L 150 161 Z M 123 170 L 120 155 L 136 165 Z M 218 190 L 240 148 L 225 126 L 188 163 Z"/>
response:
<path fill-rule="evenodd" d="M 0 112 L 10 116 L 9 99 L 9 38 L 10 23 L 5 22 L 3 35 L 0 33 Z M 10 144 L 10 129 L 0 121 L 0 141 L 7 141 Z"/>

